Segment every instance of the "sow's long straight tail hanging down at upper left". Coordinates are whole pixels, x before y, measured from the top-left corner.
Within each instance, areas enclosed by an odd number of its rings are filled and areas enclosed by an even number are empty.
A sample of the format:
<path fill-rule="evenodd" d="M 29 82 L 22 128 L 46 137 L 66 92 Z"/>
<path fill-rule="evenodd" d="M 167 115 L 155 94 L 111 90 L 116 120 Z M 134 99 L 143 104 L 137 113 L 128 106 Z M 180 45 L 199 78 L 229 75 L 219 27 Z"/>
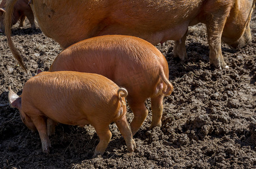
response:
<path fill-rule="evenodd" d="M 27 73 L 27 69 L 24 65 L 23 59 L 21 58 L 17 49 L 14 47 L 14 43 L 12 43 L 12 39 L 11 39 L 12 14 L 14 12 L 14 5 L 16 2 L 17 0 L 6 1 L 5 34 L 6 34 L 8 46 L 10 47 L 12 55 L 14 55 L 15 59 L 18 61 L 21 68 L 23 68 Z"/>

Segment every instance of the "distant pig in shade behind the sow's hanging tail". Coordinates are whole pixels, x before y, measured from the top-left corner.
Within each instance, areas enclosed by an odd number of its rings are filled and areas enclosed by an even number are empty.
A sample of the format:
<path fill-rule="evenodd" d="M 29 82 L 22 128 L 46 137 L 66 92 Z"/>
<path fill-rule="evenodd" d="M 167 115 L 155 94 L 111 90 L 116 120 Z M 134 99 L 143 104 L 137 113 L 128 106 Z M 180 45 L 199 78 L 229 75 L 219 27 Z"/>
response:
<path fill-rule="evenodd" d="M 5 32 L 5 25 L 4 25 L 4 18 L 5 18 L 5 6 L 6 6 L 6 1 L 7 0 L 2 0 L 0 3 L 0 32 Z M 34 15 L 31 7 L 28 5 L 29 1 L 28 0 L 18 0 L 13 9 L 12 13 L 12 21 L 11 25 L 14 25 L 17 23 L 18 20 L 20 20 L 19 27 L 23 27 L 23 23 L 25 20 L 25 17 L 27 16 L 31 28 L 36 29 L 36 25 L 34 23 Z"/>

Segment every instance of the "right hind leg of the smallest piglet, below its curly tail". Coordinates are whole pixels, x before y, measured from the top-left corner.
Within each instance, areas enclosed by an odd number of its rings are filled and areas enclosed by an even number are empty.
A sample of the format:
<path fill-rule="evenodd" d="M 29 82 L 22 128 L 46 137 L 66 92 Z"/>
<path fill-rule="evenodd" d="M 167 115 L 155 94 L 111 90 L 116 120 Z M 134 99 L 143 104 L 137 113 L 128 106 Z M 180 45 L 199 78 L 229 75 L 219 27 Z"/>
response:
<path fill-rule="evenodd" d="M 120 130 L 123 139 L 125 139 L 125 143 L 129 152 L 134 152 L 136 148 L 135 141 L 133 140 L 133 134 L 131 134 L 131 127 L 127 122 L 126 115 L 123 115 L 120 119 L 115 121 L 118 129 Z"/>

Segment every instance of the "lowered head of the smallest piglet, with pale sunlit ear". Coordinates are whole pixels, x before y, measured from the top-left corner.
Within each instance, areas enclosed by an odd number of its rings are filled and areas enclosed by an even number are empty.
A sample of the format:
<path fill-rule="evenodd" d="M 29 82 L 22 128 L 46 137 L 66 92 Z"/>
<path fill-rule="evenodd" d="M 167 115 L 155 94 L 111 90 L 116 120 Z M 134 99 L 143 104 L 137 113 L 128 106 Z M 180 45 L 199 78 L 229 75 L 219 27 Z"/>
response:
<path fill-rule="evenodd" d="M 12 108 L 19 109 L 21 121 L 32 131 L 36 131 L 36 126 L 34 126 L 34 123 L 32 122 L 31 118 L 23 112 L 22 106 L 21 106 L 21 97 L 15 94 L 14 91 L 11 90 L 11 86 L 8 87 L 9 94 L 8 94 L 8 100 L 10 103 L 10 106 Z"/>

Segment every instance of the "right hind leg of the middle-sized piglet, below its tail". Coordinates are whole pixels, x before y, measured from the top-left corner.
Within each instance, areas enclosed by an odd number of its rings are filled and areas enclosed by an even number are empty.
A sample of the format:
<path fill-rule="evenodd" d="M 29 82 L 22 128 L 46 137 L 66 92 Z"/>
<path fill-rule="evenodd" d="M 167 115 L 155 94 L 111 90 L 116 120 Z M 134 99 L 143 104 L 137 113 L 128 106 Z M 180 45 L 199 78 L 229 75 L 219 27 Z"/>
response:
<path fill-rule="evenodd" d="M 150 126 L 151 129 L 153 127 L 162 126 L 161 118 L 162 118 L 162 110 L 163 110 L 163 105 L 162 105 L 163 99 L 164 99 L 164 95 L 151 98 L 151 109 L 152 109 L 152 122 Z"/>

